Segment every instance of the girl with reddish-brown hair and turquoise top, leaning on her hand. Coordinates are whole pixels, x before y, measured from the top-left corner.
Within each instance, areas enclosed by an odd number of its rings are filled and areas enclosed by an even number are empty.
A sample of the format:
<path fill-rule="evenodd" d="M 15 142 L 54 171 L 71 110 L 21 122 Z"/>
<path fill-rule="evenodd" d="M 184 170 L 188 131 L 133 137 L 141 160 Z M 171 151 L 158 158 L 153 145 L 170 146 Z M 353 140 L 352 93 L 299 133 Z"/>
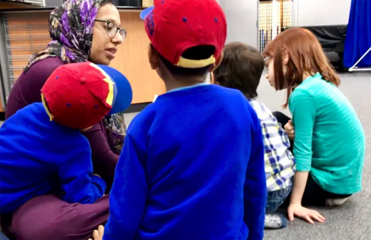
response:
<path fill-rule="evenodd" d="M 361 122 L 309 30 L 284 31 L 268 44 L 264 56 L 266 78 L 276 90 L 288 90 L 285 107 L 292 113 L 291 121 L 288 117 L 282 121 L 294 141 L 297 170 L 289 220 L 298 216 L 312 224 L 323 222 L 321 214 L 302 205 L 341 205 L 361 191 L 365 154 Z"/>

